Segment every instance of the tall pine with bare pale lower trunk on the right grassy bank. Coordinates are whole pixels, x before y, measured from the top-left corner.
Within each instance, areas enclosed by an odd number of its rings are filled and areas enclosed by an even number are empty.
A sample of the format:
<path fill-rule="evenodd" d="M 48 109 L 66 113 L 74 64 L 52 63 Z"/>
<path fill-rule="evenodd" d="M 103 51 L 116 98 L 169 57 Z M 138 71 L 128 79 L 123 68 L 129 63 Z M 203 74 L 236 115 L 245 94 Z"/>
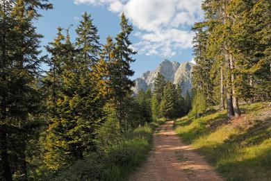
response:
<path fill-rule="evenodd" d="M 227 110 L 228 117 L 231 118 L 234 114 L 239 117 L 240 110 L 238 108 L 238 94 L 236 93 L 236 66 L 231 52 L 232 22 L 227 10 L 229 2 L 228 0 L 221 2 L 204 1 L 203 8 L 206 10 L 206 24 L 209 26 L 208 31 L 210 34 L 207 51 L 215 60 L 221 60 L 220 64 L 224 67 L 225 76 L 223 78 L 226 87 Z M 217 55 L 223 55 L 224 57 L 220 58 Z M 222 67 L 220 67 L 220 71 L 223 70 Z M 236 112 L 234 112 L 233 108 Z"/>

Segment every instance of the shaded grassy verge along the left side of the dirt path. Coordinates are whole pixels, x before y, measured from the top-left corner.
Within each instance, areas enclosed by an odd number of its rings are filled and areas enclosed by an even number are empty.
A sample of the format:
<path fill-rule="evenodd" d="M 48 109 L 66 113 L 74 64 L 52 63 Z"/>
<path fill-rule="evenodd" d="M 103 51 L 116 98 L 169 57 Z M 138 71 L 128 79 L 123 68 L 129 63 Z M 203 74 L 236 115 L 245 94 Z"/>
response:
<path fill-rule="evenodd" d="M 49 180 L 125 180 L 147 158 L 152 132 L 165 121 L 159 119 L 136 128 L 103 152 L 90 153 Z"/>

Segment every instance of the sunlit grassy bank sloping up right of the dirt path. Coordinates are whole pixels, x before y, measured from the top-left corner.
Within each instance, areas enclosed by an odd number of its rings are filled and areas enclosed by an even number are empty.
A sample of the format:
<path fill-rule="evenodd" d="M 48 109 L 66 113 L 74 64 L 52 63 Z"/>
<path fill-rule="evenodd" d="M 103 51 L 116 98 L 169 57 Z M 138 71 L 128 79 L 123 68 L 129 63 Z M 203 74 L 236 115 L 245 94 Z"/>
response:
<path fill-rule="evenodd" d="M 241 107 L 243 117 L 227 121 L 225 111 L 176 120 L 175 131 L 213 164 L 226 180 L 271 180 L 271 107 Z"/>

